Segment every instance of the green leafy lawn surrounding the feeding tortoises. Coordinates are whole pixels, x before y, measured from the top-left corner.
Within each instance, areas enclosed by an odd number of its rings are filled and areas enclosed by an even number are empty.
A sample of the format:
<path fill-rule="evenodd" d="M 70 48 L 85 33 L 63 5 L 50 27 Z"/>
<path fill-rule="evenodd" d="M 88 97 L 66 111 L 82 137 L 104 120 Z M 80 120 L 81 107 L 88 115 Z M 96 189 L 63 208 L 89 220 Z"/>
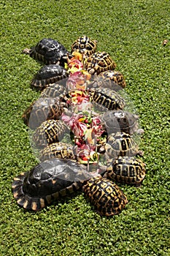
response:
<path fill-rule="evenodd" d="M 0 1 L 0 255 L 170 255 L 168 0 Z M 144 135 L 147 176 L 140 189 L 121 185 L 128 205 L 99 217 L 81 193 L 36 214 L 15 202 L 11 184 L 36 165 L 21 119 L 39 94 L 29 87 L 39 64 L 21 54 L 45 37 L 70 50 L 77 37 L 98 40 L 123 72 Z"/>

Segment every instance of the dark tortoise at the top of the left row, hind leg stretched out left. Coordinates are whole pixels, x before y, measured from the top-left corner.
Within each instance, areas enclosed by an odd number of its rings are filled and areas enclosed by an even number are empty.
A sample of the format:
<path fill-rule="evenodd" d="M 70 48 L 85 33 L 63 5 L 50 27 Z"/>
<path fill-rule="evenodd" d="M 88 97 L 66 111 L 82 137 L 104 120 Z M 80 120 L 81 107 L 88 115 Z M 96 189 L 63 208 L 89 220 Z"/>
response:
<path fill-rule="evenodd" d="M 58 64 L 63 67 L 67 63 L 68 56 L 72 58 L 72 55 L 60 42 L 51 38 L 41 39 L 31 49 L 24 49 L 23 53 L 29 54 L 31 58 L 42 64 Z"/>

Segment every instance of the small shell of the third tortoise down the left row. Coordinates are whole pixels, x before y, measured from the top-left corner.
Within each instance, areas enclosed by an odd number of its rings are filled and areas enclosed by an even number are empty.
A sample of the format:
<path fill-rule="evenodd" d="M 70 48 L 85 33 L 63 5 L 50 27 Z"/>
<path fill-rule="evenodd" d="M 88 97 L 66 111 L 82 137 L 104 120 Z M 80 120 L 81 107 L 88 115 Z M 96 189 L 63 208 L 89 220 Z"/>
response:
<path fill-rule="evenodd" d="M 43 97 L 43 98 L 64 97 L 65 94 L 68 94 L 68 90 L 66 90 L 65 86 L 58 84 L 58 83 L 52 83 L 42 91 L 41 97 Z"/>

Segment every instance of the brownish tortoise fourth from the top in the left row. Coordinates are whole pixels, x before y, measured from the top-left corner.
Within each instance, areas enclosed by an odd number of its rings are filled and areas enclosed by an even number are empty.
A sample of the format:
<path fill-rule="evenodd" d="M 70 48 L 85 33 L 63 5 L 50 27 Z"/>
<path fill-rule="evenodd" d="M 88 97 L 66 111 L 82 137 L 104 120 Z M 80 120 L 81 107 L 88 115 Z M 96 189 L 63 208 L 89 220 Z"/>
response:
<path fill-rule="evenodd" d="M 60 98 L 39 98 L 24 111 L 23 121 L 31 129 L 36 129 L 43 121 L 59 119 L 64 108 L 68 105 Z"/>

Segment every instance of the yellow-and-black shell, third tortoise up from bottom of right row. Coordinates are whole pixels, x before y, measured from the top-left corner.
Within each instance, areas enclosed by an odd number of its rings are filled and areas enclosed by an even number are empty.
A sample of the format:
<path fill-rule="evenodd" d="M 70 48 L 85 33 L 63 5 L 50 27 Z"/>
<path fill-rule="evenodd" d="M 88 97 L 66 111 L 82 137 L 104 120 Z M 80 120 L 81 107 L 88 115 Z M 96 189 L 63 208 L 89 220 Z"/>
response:
<path fill-rule="evenodd" d="M 125 132 L 111 133 L 107 138 L 105 149 L 107 156 L 112 159 L 118 156 L 133 157 L 137 154 L 142 155 L 142 151 L 139 151 L 134 139 Z"/>

